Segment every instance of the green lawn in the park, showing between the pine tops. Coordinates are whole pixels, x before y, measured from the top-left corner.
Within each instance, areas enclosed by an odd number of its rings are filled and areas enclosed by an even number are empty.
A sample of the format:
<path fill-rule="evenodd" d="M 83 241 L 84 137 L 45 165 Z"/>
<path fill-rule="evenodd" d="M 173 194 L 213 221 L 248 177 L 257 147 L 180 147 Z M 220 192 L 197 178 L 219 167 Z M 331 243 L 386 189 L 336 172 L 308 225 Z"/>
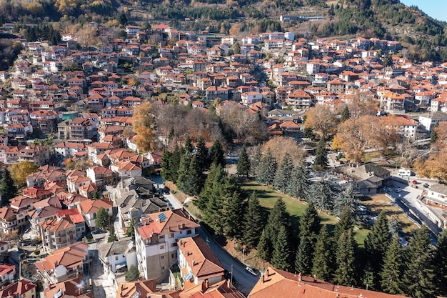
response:
<path fill-rule="evenodd" d="M 266 212 L 268 212 L 269 209 L 273 208 L 275 202 L 279 198 L 282 198 L 284 203 L 286 204 L 287 212 L 291 214 L 292 226 L 294 228 L 298 227 L 299 217 L 301 216 L 301 214 L 304 213 L 304 210 L 306 209 L 306 202 L 298 201 L 297 199 L 293 199 L 287 194 L 277 192 L 276 190 L 270 189 L 252 181 L 245 182 L 242 187 L 243 189 L 246 189 L 248 194 L 251 194 L 253 191 L 256 193 L 259 198 L 261 207 L 263 207 Z M 327 214 L 326 212 L 319 212 L 319 215 L 321 217 L 321 224 L 327 224 L 329 231 L 332 231 L 338 219 L 336 219 L 336 217 L 334 217 L 333 215 Z M 363 242 L 369 232 L 369 229 L 356 227 L 354 232 L 356 233 L 356 241 L 360 246 L 363 246 Z"/>

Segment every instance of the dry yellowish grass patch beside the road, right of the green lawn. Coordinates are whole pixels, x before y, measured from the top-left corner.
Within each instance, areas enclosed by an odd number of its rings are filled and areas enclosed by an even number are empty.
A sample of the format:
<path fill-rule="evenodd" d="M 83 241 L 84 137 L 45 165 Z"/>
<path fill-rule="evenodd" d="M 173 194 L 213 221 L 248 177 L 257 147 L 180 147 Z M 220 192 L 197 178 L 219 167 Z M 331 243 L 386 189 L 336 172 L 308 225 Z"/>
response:
<path fill-rule="evenodd" d="M 407 234 L 418 229 L 418 226 L 416 226 L 411 219 L 408 219 L 401 209 L 390 204 L 390 199 L 388 199 L 385 194 L 375 194 L 365 197 L 360 203 L 375 214 L 379 214 L 383 210 L 386 217 L 388 217 L 388 219 L 396 219 L 399 224 L 401 224 L 403 232 L 406 232 Z"/>

